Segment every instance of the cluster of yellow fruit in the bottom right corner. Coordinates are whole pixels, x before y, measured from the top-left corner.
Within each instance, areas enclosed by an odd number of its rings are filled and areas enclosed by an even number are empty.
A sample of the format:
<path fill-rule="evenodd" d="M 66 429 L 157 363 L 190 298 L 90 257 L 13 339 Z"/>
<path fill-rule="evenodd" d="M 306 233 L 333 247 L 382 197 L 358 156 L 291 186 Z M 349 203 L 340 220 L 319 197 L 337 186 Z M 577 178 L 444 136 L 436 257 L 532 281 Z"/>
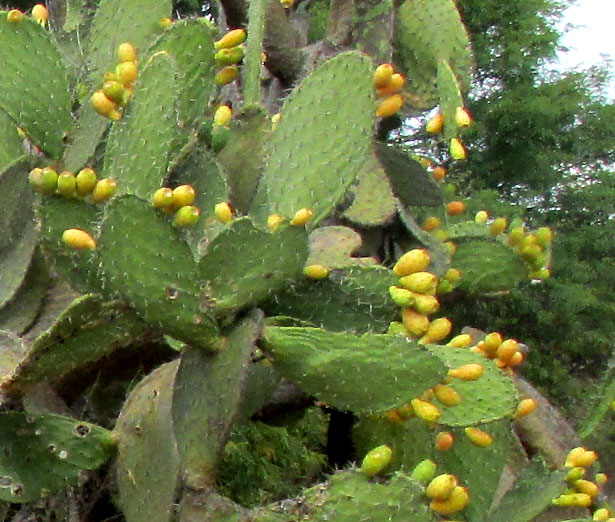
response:
<path fill-rule="evenodd" d="M 587 470 L 598 460 L 598 454 L 583 447 L 570 450 L 564 466 L 572 468 L 566 476 L 569 488 L 559 497 L 553 499 L 557 506 L 590 507 L 600 492 L 600 486 L 607 481 L 604 473 L 596 473 L 594 481 L 584 478 Z M 598 509 L 594 512 L 593 520 L 598 522 L 615 522 L 611 518 L 610 510 Z"/>

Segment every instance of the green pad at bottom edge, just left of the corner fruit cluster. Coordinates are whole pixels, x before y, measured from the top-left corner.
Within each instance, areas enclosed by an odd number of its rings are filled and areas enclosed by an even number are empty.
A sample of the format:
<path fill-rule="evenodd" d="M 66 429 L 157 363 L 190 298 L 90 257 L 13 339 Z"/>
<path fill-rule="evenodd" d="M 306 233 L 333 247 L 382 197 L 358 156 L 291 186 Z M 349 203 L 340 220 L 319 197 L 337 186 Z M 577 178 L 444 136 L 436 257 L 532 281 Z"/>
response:
<path fill-rule="evenodd" d="M 565 471 L 551 471 L 541 460 L 533 460 L 489 513 L 489 522 L 531 522 L 565 491 L 565 477 Z"/>

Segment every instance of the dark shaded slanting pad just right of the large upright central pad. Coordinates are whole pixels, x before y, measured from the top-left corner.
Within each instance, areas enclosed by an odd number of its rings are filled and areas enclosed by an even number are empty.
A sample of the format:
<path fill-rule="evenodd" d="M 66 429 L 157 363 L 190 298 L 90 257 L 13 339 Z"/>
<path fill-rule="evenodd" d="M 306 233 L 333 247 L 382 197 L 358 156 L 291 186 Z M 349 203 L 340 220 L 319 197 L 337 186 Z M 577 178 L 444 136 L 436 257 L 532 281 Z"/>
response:
<path fill-rule="evenodd" d="M 397 147 L 376 145 L 378 160 L 404 207 L 442 205 L 442 190 L 423 166 Z"/>

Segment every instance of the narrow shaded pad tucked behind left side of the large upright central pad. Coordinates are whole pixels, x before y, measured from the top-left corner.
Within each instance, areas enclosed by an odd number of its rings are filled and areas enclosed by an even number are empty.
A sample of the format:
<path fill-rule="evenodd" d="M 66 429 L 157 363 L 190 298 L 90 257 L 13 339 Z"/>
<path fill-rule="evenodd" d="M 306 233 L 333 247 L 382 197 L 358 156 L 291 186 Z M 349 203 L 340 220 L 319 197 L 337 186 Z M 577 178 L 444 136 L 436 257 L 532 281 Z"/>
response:
<path fill-rule="evenodd" d="M 228 143 L 218 154 L 231 191 L 231 203 L 238 212 L 250 209 L 264 166 L 264 152 L 271 135 L 271 120 L 260 109 L 235 116 Z"/>

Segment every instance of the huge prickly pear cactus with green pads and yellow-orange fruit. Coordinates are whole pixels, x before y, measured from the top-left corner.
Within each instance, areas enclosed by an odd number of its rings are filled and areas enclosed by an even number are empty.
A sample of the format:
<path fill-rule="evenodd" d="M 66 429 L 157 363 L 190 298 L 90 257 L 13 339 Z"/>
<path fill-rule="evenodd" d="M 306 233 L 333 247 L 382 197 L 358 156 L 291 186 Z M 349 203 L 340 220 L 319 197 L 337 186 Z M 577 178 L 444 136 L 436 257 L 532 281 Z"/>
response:
<path fill-rule="evenodd" d="M 445 293 L 546 276 L 550 233 L 464 220 L 387 145 L 439 106 L 432 132 L 465 155 L 453 0 L 226 0 L 216 23 L 172 20 L 170 0 L 92 4 L 0 12 L 5 518 L 98 520 L 107 498 L 128 522 L 522 522 L 561 499 L 539 462 L 498 487 L 522 347 L 445 344 L 434 319 Z M 258 421 L 271 411 L 285 424 Z M 335 473 L 302 446 L 329 416 Z M 296 496 L 231 498 L 250 470 L 246 487 L 283 490 L 276 463 Z M 434 497 L 435 474 L 455 486 Z"/>

